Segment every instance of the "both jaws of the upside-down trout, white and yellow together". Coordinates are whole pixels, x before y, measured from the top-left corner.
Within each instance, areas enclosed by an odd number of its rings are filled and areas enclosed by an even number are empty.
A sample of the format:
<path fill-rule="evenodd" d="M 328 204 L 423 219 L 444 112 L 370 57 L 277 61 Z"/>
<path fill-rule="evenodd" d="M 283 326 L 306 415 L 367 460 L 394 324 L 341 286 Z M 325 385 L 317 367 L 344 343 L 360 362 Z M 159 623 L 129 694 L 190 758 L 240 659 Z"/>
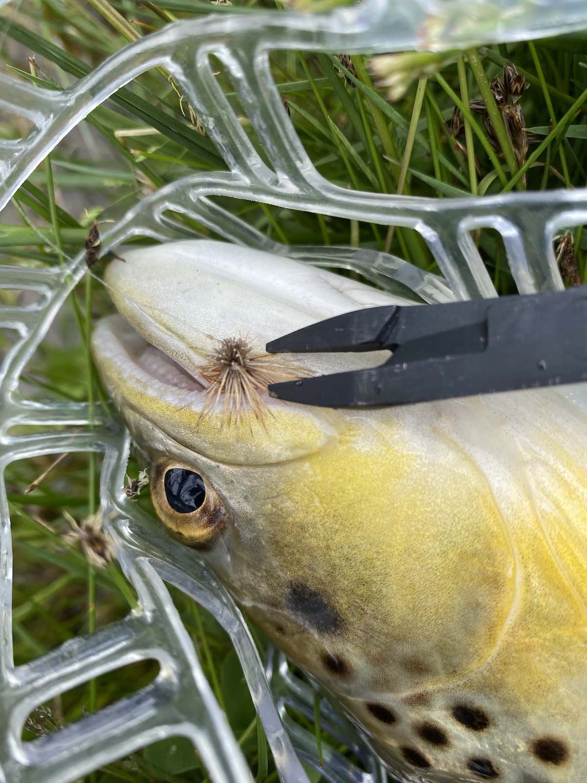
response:
<path fill-rule="evenodd" d="M 92 349 L 124 415 L 133 410 L 182 446 L 236 463 L 297 459 L 337 440 L 346 414 L 272 399 L 262 384 L 256 392 L 263 417 L 250 415 L 245 402 L 238 426 L 224 426 L 224 389 L 211 406 L 204 370 L 223 340 L 243 338 L 258 357 L 280 334 L 397 299 L 323 269 L 218 242 L 121 253 L 124 261 L 111 262 L 105 274 L 119 315 L 97 324 Z M 290 377 L 301 377 L 376 366 L 388 355 L 299 354 L 275 361 L 291 366 Z"/>

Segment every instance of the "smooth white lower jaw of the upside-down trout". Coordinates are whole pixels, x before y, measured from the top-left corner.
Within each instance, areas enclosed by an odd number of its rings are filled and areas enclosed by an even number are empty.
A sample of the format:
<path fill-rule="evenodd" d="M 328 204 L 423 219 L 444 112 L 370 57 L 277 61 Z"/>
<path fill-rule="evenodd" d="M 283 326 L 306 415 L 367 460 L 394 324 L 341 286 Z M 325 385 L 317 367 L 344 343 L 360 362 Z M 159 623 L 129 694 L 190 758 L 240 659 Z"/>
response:
<path fill-rule="evenodd" d="M 290 331 L 365 307 L 401 300 L 358 283 L 262 251 L 190 240 L 121 251 L 105 282 L 118 312 L 151 345 L 193 373 L 226 338 L 243 337 L 258 354 Z M 369 355 L 291 355 L 312 374 L 376 366 Z"/>

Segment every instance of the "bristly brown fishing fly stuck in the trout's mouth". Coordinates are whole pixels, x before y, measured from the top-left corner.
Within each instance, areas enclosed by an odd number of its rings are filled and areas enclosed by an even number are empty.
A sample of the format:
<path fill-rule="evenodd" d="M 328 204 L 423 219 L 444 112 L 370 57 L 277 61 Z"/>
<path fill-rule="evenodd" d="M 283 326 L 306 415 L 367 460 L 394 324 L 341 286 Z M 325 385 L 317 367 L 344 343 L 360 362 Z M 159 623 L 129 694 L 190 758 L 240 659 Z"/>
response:
<path fill-rule="evenodd" d="M 260 392 L 267 391 L 269 384 L 308 374 L 299 367 L 280 362 L 275 355 L 255 355 L 246 337 L 226 337 L 219 341 L 215 351 L 207 354 L 207 359 L 208 364 L 198 367 L 198 373 L 210 384 L 198 424 L 223 397 L 222 425 L 231 424 L 233 419 L 239 424 L 244 412 L 252 431 L 252 411 L 265 427 L 268 408 Z"/>

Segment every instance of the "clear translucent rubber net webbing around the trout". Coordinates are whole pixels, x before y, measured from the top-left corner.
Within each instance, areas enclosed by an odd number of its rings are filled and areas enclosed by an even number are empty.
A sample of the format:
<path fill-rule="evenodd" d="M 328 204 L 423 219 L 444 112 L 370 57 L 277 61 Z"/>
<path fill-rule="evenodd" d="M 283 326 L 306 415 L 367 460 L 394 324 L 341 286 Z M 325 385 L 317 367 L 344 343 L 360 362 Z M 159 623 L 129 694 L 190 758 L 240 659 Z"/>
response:
<path fill-rule="evenodd" d="M 181 85 L 229 171 L 193 175 L 146 197 L 103 233 L 104 251 L 139 234 L 156 240 L 186 236 L 186 229 L 168 217 L 176 212 L 194 218 L 225 240 L 355 269 L 381 286 L 393 289 L 402 283 L 423 301 L 441 302 L 495 295 L 470 238 L 473 229 L 488 226 L 503 238 L 520 292 L 556 290 L 562 283 L 553 236 L 562 227 L 587 222 L 587 191 L 432 200 L 351 193 L 333 186 L 315 170 L 286 117 L 268 67 L 268 52 L 450 49 L 478 41 L 554 34 L 578 24 L 587 25 L 587 11 L 583 2 L 572 0 L 556 4 L 372 0 L 326 16 L 225 13 L 175 23 L 128 45 L 63 92 L 41 90 L 0 74 L 0 108 L 34 124 L 24 139 L 0 140 L 0 208 L 95 106 L 143 71 L 162 65 Z M 254 150 L 221 92 L 211 54 L 229 70 L 268 164 Z M 340 247 L 284 247 L 214 204 L 210 197 L 216 195 L 412 227 L 423 235 L 444 279 L 389 254 Z M 23 366 L 85 269 L 83 254 L 64 269 L 0 267 L 0 287 L 38 294 L 33 305 L 0 307 L 0 327 L 16 330 L 18 335 L 0 371 L 0 781 L 67 783 L 171 735 L 191 739 L 212 780 L 250 780 L 243 754 L 203 676 L 164 581 L 199 601 L 230 634 L 280 778 L 287 783 L 307 781 L 301 761 L 317 763 L 315 739 L 290 719 L 285 706 L 294 705 L 312 718 L 312 688 L 292 675 L 283 656 L 261 662 L 239 609 L 214 575 L 196 554 L 168 539 L 124 497 L 128 435 L 99 413 L 90 428 L 88 408 L 83 404 L 40 404 L 16 392 Z M 584 405 L 585 391 L 573 393 L 578 404 Z M 10 434 L 18 424 L 39 429 L 26 437 Z M 52 431 L 55 425 L 59 431 Z M 140 608 L 121 622 L 70 640 L 27 666 L 15 668 L 10 518 L 2 474 L 13 460 L 76 450 L 103 453 L 103 509 L 118 560 L 139 594 Z M 161 667 L 149 687 L 55 734 L 21 742 L 23 723 L 38 704 L 101 673 L 147 658 L 157 659 Z M 369 770 L 352 767 L 326 747 L 324 778 L 333 783 L 384 780 L 386 773 L 380 764 L 327 705 L 322 705 L 322 722 L 332 736 L 355 749 Z"/>

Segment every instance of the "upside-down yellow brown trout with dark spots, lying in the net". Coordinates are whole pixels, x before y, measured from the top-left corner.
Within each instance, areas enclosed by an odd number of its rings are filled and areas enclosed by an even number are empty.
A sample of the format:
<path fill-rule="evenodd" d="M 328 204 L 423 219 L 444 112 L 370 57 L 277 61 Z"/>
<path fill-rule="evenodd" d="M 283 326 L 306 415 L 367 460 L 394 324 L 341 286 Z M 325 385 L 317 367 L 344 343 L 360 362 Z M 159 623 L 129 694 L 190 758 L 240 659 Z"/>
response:
<path fill-rule="evenodd" d="M 268 357 L 268 341 L 407 302 L 205 240 L 124 259 L 92 348 L 171 536 L 402 779 L 579 779 L 584 414 L 542 390 L 370 410 L 272 399 L 268 380 L 389 354 Z"/>

